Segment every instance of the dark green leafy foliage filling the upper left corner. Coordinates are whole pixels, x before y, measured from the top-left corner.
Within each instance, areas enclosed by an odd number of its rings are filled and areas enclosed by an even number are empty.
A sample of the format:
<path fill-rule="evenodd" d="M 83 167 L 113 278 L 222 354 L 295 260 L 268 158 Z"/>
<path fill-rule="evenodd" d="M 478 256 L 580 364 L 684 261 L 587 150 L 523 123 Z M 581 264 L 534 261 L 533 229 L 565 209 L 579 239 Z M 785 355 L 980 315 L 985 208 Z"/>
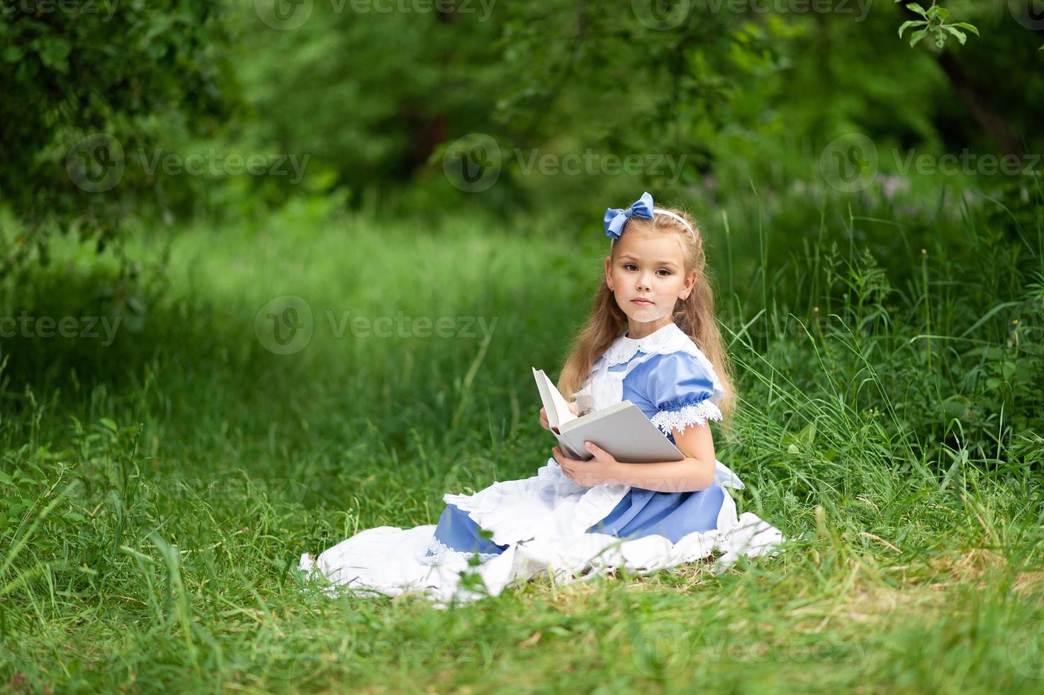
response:
<path fill-rule="evenodd" d="M 213 128 L 232 96 L 226 3 L 2 4 L 0 196 L 24 229 L 0 234 L 0 276 L 33 251 L 46 262 L 55 230 L 102 249 L 132 211 L 162 210 L 157 180 L 128 162 L 156 147 L 158 121 Z"/>

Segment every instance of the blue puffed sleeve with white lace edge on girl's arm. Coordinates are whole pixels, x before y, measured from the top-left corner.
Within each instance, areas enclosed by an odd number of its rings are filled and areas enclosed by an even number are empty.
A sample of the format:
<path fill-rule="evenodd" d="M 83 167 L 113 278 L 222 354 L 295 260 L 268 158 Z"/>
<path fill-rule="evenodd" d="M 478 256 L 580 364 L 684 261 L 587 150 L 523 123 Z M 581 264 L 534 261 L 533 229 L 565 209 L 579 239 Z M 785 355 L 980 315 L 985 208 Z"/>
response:
<path fill-rule="evenodd" d="M 702 354 L 679 351 L 661 355 L 649 370 L 647 390 L 659 410 L 652 424 L 665 435 L 674 430 L 684 434 L 693 424 L 721 419 L 717 403 L 725 392 L 710 361 Z"/>

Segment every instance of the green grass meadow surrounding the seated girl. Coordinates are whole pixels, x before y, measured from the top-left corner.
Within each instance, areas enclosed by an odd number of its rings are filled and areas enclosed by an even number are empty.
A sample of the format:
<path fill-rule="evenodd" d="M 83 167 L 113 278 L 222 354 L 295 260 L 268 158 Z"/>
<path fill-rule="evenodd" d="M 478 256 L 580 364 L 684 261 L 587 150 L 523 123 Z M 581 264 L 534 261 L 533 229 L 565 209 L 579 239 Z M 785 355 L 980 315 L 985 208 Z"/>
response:
<path fill-rule="evenodd" d="M 603 238 L 303 205 L 183 230 L 167 273 L 152 265 L 164 239 L 138 235 L 138 282 L 56 250 L 6 294 L 6 315 L 135 320 L 108 347 L 0 343 L 0 682 L 1039 692 L 1044 361 L 1026 307 L 1040 210 L 1019 228 L 1029 251 L 969 208 L 930 223 L 929 238 L 960 245 L 885 269 L 848 237 L 891 223 L 916 238 L 921 212 L 856 210 L 816 229 L 785 208 L 733 214 L 728 238 L 705 223 L 742 396 L 716 441 L 746 483 L 739 510 L 804 539 L 722 574 L 545 577 L 451 610 L 329 599 L 294 567 L 358 529 L 434 523 L 444 492 L 542 465 L 551 442 L 528 369 L 560 366 Z M 254 326 L 287 295 L 307 302 L 313 335 L 282 355 Z M 345 311 L 451 317 L 455 330 L 337 335 Z M 492 340 L 474 324 L 457 335 L 462 317 L 485 319 Z"/>

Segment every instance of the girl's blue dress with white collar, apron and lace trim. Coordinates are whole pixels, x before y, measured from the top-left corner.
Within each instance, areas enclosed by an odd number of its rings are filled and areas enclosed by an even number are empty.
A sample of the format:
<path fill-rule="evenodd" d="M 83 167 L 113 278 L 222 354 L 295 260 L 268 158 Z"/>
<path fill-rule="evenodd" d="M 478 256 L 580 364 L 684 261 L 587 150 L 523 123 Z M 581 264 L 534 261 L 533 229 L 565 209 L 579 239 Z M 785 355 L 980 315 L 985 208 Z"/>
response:
<path fill-rule="evenodd" d="M 673 442 L 673 431 L 720 420 L 726 393 L 692 340 L 670 323 L 642 339 L 620 335 L 572 394 L 583 412 L 630 400 Z M 303 555 L 334 585 L 396 596 L 417 590 L 447 601 L 499 594 L 508 583 L 549 572 L 569 581 L 614 570 L 651 572 L 722 553 L 773 552 L 779 530 L 736 505 L 725 490 L 743 484 L 720 461 L 715 480 L 695 492 L 658 492 L 608 483 L 573 483 L 550 458 L 537 474 L 494 483 L 474 494 L 444 495 L 437 525 L 362 531 L 319 555 Z M 490 536 L 489 539 L 483 537 Z M 480 564 L 469 560 L 477 553 Z M 393 559 L 394 558 L 394 559 Z M 460 574 L 482 579 L 458 590 Z"/>

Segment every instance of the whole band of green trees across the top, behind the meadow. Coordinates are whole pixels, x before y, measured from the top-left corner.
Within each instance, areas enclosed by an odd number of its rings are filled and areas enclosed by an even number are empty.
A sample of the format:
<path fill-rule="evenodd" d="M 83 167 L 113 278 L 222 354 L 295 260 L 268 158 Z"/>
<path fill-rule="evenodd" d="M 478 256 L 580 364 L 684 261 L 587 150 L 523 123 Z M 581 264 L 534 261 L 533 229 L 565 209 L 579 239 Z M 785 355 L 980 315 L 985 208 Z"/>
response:
<path fill-rule="evenodd" d="M 26 1 L 0 23 L 0 194 L 30 229 L 53 217 L 100 242 L 132 202 L 238 215 L 336 188 L 356 206 L 589 211 L 643 186 L 691 195 L 722 163 L 806 167 L 845 133 L 1012 150 L 1044 98 L 1019 69 L 1041 59 L 1039 31 L 1001 0 L 947 2 L 981 38 L 915 50 L 896 28 L 920 15 L 869 0 L 138 1 L 108 19 Z M 447 180 L 460 138 L 496 160 L 480 195 Z M 307 176 L 118 166 L 200 148 L 308 158 Z M 618 172 L 626 157 L 637 172 Z"/>

